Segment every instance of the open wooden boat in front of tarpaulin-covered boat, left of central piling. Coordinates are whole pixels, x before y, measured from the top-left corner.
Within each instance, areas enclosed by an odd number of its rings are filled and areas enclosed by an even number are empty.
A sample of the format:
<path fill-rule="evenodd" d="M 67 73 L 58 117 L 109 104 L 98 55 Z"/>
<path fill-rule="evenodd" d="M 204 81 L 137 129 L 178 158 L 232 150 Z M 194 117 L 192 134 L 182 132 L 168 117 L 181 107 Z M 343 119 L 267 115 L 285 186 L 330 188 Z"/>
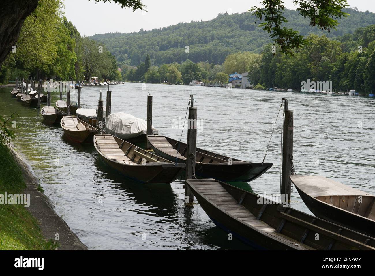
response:
<path fill-rule="evenodd" d="M 108 166 L 141 183 L 171 183 L 186 166 L 174 164 L 111 134 L 95 135 L 94 146 Z"/>

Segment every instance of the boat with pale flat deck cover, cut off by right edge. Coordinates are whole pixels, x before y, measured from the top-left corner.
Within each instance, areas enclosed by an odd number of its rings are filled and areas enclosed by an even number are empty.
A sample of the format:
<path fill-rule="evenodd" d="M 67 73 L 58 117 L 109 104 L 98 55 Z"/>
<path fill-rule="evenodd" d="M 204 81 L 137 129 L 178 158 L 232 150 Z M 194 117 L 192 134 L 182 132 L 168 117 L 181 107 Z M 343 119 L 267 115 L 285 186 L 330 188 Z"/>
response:
<path fill-rule="evenodd" d="M 375 196 L 320 175 L 291 175 L 317 217 L 375 237 Z"/>

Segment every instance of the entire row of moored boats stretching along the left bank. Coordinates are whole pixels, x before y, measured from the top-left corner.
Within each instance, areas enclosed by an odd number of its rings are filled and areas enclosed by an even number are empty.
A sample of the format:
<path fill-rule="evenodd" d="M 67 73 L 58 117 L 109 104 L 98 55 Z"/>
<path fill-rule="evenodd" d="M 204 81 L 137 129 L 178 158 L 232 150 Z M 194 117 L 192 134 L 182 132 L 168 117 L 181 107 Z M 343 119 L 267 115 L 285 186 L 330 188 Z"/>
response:
<path fill-rule="evenodd" d="M 35 94 L 19 93 L 11 91 L 20 101 Z M 74 116 L 68 116 L 67 103 L 58 100 L 40 114 L 46 124 L 60 126 L 72 143 L 93 144 L 101 159 L 124 178 L 169 184 L 183 175 L 186 143 L 159 135 L 153 126 L 147 136 L 147 122 L 123 112 L 104 114 L 105 124 L 98 131 L 97 110 L 71 105 L 70 111 Z M 146 139 L 153 152 L 141 145 Z M 323 176 L 291 175 L 312 216 L 233 183 L 257 179 L 272 163 L 242 161 L 201 148 L 196 148 L 195 160 L 197 178 L 186 179 L 185 185 L 216 226 L 244 243 L 256 249 L 375 250 L 374 195 Z"/>

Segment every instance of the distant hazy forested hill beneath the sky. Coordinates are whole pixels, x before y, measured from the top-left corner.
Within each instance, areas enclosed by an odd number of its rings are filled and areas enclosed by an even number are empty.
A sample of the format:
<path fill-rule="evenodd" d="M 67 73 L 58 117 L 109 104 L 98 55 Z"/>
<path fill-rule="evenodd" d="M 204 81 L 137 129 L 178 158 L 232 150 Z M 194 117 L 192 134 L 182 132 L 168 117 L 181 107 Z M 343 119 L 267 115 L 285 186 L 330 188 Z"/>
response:
<path fill-rule="evenodd" d="M 309 26 L 295 10 L 286 10 L 284 16 L 289 21 L 286 27 L 293 27 L 302 35 L 325 34 L 329 38 L 352 34 L 354 30 L 375 24 L 375 14 L 348 9 L 350 16 L 339 19 L 337 30 L 330 33 Z M 225 57 L 237 51 L 260 53 L 263 46 L 270 42 L 269 34 L 254 24 L 249 12 L 229 15 L 220 13 L 210 21 L 179 23 L 151 31 L 140 30 L 137 33 L 106 33 L 91 36 L 104 43 L 117 62 L 138 65 L 150 54 L 155 65 L 172 62 L 208 61 L 221 64 Z M 189 52 L 186 53 L 186 46 Z"/>

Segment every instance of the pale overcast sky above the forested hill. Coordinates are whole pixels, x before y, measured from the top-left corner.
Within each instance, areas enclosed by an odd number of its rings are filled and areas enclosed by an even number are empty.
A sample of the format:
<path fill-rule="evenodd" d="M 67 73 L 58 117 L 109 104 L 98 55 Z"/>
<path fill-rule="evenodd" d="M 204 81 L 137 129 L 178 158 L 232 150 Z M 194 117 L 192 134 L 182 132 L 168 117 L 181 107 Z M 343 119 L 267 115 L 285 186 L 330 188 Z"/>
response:
<path fill-rule="evenodd" d="M 259 0 L 142 0 L 147 13 L 121 9 L 115 3 L 95 3 L 94 0 L 64 0 L 65 14 L 77 27 L 81 35 L 96 33 L 138 32 L 139 29 L 151 30 L 168 27 L 179 22 L 207 21 L 215 18 L 219 12 L 245 12 L 259 5 Z M 233 3 L 233 5 L 231 5 Z M 295 9 L 293 0 L 284 0 L 288 9 Z M 348 0 L 350 7 L 359 11 L 375 12 L 375 0 Z"/>

